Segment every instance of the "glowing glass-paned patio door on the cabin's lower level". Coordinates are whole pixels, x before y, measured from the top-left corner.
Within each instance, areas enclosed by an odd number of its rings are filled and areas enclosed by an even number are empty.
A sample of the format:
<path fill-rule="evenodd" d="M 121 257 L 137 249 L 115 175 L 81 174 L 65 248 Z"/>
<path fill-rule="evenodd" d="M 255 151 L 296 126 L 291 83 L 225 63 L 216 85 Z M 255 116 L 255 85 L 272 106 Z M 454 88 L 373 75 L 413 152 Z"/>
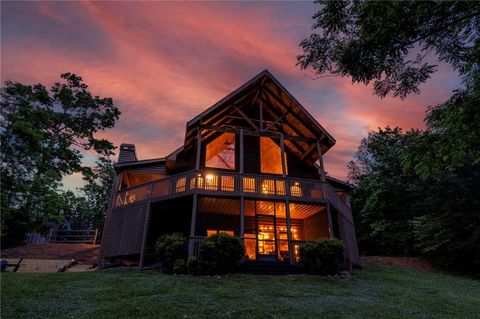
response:
<path fill-rule="evenodd" d="M 257 260 L 277 260 L 274 215 L 257 215 Z"/>

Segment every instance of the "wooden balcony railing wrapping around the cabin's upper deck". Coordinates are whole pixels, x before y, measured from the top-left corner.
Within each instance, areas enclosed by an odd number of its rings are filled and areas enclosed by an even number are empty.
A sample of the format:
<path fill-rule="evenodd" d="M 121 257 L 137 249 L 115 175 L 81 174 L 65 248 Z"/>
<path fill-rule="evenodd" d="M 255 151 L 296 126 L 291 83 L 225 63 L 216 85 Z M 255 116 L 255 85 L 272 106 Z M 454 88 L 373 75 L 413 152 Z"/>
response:
<path fill-rule="evenodd" d="M 191 171 L 165 179 L 117 191 L 115 207 L 145 200 L 161 200 L 191 194 L 248 196 L 260 198 L 288 197 L 292 200 L 323 200 L 319 180 L 270 175 L 238 174 L 219 171 Z"/>

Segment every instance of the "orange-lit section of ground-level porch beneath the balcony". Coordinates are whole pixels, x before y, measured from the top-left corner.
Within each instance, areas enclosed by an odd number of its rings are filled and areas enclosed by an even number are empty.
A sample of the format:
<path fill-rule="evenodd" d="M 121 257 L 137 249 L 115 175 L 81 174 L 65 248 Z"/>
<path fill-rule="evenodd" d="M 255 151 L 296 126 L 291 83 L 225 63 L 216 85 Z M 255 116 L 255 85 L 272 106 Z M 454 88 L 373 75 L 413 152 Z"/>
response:
<path fill-rule="evenodd" d="M 333 236 L 325 204 L 285 200 L 199 196 L 192 222 L 189 257 L 198 257 L 207 236 L 224 232 L 243 240 L 245 261 L 295 263 L 302 244 Z"/>

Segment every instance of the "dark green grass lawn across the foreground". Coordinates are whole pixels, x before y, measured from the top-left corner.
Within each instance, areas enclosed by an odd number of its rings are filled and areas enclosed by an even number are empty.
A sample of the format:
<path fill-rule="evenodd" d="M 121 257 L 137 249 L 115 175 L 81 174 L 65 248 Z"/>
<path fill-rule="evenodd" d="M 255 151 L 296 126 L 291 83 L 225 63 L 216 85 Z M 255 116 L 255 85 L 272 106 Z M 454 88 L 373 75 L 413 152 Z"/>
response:
<path fill-rule="evenodd" d="M 1 275 L 1 318 L 480 318 L 480 281 L 371 265 L 349 279 L 155 271 Z"/>

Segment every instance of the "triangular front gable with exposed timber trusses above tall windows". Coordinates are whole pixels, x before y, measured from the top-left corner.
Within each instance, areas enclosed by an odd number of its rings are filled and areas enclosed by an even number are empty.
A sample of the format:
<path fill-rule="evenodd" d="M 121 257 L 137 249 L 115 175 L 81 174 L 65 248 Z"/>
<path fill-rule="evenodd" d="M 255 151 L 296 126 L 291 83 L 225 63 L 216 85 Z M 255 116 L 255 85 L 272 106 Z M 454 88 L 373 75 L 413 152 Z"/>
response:
<path fill-rule="evenodd" d="M 257 111 L 259 109 L 260 112 Z M 229 126 L 243 126 L 259 135 L 282 133 L 289 137 L 285 140 L 286 148 L 310 163 L 318 159 L 316 141 L 320 141 L 322 153 L 335 144 L 335 139 L 268 70 L 262 71 L 190 120 L 186 127 L 184 147 L 187 149 L 193 145 L 198 128 L 202 128 L 204 140 L 215 134 L 205 128 L 228 129 Z"/>

